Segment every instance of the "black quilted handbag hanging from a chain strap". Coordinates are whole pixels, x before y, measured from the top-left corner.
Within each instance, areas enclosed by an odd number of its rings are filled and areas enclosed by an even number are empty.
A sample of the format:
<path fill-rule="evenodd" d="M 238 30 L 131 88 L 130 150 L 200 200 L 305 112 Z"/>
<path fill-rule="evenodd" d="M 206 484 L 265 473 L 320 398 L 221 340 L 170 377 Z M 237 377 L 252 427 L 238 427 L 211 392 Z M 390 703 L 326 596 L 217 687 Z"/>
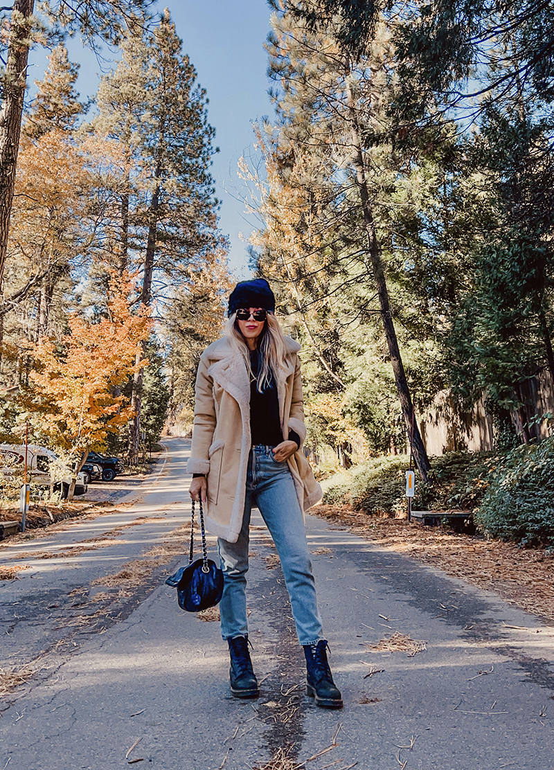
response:
<path fill-rule="evenodd" d="M 204 514 L 200 500 L 200 531 L 202 532 L 202 557 L 193 561 L 194 551 L 194 500 L 190 519 L 190 550 L 188 567 L 180 567 L 166 584 L 177 589 L 177 601 L 182 610 L 200 612 L 213 607 L 223 594 L 223 572 L 207 557 Z"/>

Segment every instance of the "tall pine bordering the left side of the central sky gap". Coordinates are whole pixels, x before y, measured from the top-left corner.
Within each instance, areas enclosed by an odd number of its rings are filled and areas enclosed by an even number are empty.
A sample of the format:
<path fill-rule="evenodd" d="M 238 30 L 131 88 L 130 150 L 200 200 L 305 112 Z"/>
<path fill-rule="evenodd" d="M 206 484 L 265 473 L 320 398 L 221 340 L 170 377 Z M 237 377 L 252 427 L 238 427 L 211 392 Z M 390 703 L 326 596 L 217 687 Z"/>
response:
<path fill-rule="evenodd" d="M 129 160 L 119 206 L 119 262 L 141 273 L 139 302 L 150 306 L 160 282 L 186 283 L 218 246 L 217 199 L 210 156 L 213 129 L 206 93 L 175 32 L 169 12 L 144 39 L 129 36 L 123 59 L 99 89 L 92 128 L 116 139 Z M 143 370 L 133 386 L 136 413 L 129 456 L 139 450 Z"/>

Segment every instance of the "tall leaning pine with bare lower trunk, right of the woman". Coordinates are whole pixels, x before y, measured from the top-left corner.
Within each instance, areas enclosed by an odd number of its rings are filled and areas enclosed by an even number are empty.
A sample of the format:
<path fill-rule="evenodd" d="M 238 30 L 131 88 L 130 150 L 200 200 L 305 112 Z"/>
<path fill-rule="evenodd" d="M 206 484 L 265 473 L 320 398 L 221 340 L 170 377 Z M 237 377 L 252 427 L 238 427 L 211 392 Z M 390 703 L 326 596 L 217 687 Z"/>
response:
<path fill-rule="evenodd" d="M 381 25 L 371 54 L 356 61 L 341 45 L 332 22 L 324 28 L 310 30 L 298 22 L 294 14 L 284 13 L 274 15 L 273 25 L 268 49 L 270 72 L 280 85 L 274 99 L 284 173 L 287 173 L 287 162 L 290 172 L 295 158 L 301 156 L 304 161 L 309 154 L 316 186 L 319 184 L 323 190 L 324 199 L 327 196 L 324 204 L 327 216 L 331 220 L 334 212 L 335 220 L 341 217 L 344 245 L 348 243 L 350 231 L 351 243 L 355 243 L 350 256 L 358 263 L 358 280 L 371 281 L 377 290 L 401 410 L 416 464 L 421 477 L 427 480 L 430 465 L 415 422 L 393 320 L 395 308 L 385 277 L 383 243 L 378 239 L 378 228 L 390 219 L 388 206 L 381 203 L 378 191 L 384 185 L 394 189 L 395 175 L 398 177 L 394 152 L 385 149 L 384 103 L 391 94 L 388 62 L 394 55 L 390 35 Z M 367 145 L 371 136 L 381 136 L 381 139 L 369 152 Z M 381 232 L 387 231 L 381 228 Z M 387 235 L 390 243 L 390 231 Z"/>

